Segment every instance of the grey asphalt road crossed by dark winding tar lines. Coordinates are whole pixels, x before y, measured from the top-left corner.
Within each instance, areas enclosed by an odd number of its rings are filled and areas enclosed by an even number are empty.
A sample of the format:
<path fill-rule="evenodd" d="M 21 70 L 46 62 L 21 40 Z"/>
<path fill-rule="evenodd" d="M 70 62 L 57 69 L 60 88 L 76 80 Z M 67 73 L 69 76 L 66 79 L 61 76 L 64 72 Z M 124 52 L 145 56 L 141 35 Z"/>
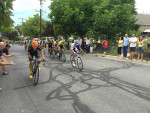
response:
<path fill-rule="evenodd" d="M 150 66 L 84 55 L 80 72 L 69 53 L 65 63 L 46 54 L 34 86 L 23 46 L 11 52 L 16 65 L 0 75 L 0 113 L 150 113 Z"/>

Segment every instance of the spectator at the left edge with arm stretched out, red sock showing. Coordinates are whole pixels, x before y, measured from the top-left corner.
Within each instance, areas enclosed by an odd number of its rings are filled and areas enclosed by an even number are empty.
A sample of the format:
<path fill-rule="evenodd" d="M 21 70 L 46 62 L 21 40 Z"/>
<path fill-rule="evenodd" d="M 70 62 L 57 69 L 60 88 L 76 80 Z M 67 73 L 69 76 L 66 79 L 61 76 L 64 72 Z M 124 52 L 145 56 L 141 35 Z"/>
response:
<path fill-rule="evenodd" d="M 3 68 L 2 75 L 8 75 L 8 73 L 5 72 L 6 65 L 14 65 L 14 63 L 5 60 L 5 58 L 3 57 L 3 49 L 4 49 L 4 42 L 0 42 L 0 65 L 2 65 Z"/>

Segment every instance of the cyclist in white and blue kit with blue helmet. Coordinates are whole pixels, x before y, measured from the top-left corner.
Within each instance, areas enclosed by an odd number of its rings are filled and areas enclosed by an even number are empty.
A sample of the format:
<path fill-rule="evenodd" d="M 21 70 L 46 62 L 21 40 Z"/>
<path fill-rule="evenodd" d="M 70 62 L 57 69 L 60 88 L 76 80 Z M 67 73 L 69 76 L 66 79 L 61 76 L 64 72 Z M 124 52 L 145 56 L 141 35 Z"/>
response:
<path fill-rule="evenodd" d="M 71 52 L 73 54 L 73 57 L 72 57 L 72 60 L 73 60 L 73 63 L 72 65 L 75 66 L 75 55 L 77 53 L 79 53 L 79 51 L 82 51 L 81 47 L 79 46 L 79 43 L 77 40 L 74 41 L 74 43 L 71 44 Z"/>

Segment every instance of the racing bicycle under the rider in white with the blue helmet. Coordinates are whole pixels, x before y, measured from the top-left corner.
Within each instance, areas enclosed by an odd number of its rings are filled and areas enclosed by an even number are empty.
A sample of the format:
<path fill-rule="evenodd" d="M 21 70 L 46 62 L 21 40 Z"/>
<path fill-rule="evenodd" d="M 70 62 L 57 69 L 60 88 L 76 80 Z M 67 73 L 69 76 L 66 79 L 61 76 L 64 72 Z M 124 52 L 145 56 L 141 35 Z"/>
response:
<path fill-rule="evenodd" d="M 75 55 L 75 65 L 78 67 L 78 69 L 79 69 L 79 71 L 82 71 L 82 69 L 83 69 L 83 62 L 82 62 L 82 59 L 81 59 L 81 57 L 79 56 L 79 54 L 80 53 L 77 53 L 76 55 Z M 71 54 L 71 56 L 70 56 L 70 61 L 71 61 L 71 65 L 72 65 L 72 67 L 74 67 L 73 66 L 73 54 Z"/>

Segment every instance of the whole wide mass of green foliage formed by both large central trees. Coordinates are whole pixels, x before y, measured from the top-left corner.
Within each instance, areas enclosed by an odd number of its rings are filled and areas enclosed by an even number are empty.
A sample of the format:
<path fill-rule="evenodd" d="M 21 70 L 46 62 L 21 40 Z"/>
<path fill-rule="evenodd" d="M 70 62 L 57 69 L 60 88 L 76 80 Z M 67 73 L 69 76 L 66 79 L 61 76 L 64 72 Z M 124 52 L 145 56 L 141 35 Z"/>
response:
<path fill-rule="evenodd" d="M 86 35 L 114 40 L 136 30 L 135 0 L 52 0 L 55 35 Z"/>

